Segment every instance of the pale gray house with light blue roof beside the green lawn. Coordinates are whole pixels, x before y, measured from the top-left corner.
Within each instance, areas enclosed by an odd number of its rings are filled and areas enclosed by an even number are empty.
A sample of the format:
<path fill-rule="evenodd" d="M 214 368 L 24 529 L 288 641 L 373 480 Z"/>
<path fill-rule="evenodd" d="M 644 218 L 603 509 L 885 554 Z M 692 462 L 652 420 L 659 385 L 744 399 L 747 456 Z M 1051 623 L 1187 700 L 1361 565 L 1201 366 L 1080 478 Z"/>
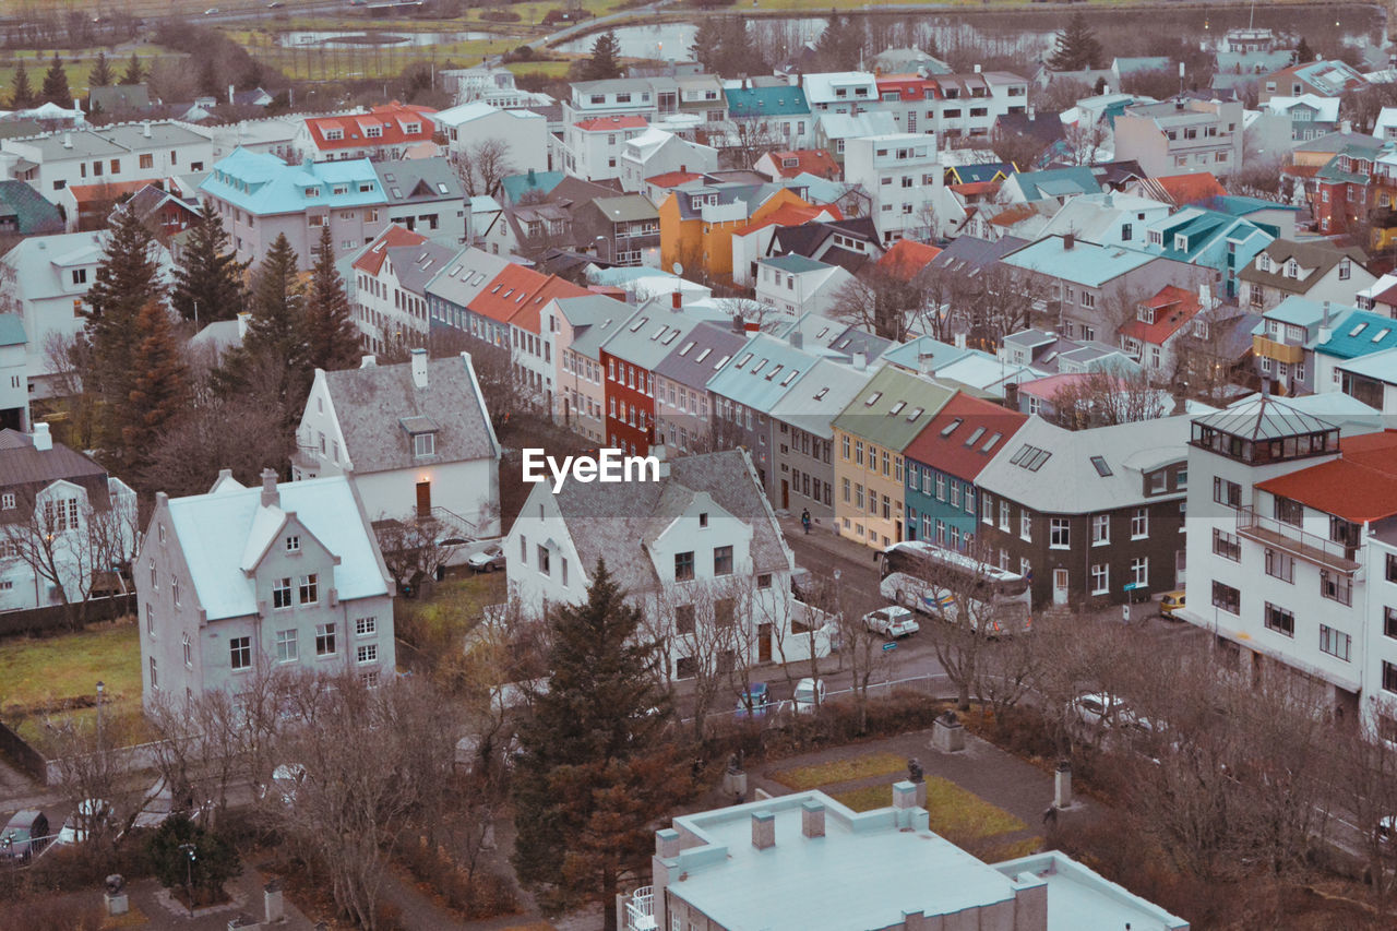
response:
<path fill-rule="evenodd" d="M 147 707 L 236 693 L 275 672 L 395 674 L 393 586 L 345 475 L 155 496 L 136 559 Z M 292 714 L 291 709 L 285 713 Z"/>

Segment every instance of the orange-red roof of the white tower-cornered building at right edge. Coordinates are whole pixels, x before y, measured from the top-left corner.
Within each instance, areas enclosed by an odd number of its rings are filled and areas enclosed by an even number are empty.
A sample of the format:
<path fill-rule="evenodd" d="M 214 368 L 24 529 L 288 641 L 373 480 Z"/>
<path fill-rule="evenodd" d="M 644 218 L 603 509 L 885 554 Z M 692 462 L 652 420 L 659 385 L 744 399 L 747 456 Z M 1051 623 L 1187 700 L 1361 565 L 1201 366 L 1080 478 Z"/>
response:
<path fill-rule="evenodd" d="M 1257 488 L 1354 523 L 1397 514 L 1397 431 L 1347 436 L 1338 450 L 1336 460 L 1278 475 Z"/>

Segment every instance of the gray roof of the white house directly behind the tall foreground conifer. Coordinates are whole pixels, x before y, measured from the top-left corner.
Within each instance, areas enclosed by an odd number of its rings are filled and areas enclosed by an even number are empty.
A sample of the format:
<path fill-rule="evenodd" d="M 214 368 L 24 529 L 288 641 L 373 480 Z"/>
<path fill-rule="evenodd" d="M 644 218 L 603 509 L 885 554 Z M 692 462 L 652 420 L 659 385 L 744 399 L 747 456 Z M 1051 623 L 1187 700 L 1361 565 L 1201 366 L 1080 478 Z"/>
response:
<path fill-rule="evenodd" d="M 658 538 L 698 492 L 752 526 L 753 572 L 791 569 L 791 552 L 743 450 L 675 459 L 669 478 L 658 482 L 567 482 L 553 499 L 583 568 L 591 573 L 597 561 L 605 559 L 623 589 L 644 591 L 658 589 L 661 579 L 643 547 Z"/>

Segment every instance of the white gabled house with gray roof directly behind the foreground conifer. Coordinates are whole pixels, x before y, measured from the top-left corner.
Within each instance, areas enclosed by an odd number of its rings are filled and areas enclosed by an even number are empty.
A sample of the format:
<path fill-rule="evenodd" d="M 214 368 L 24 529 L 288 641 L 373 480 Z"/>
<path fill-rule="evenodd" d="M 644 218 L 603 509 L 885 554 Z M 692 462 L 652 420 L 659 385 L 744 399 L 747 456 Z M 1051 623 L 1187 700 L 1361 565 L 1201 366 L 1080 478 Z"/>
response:
<path fill-rule="evenodd" d="M 791 596 L 791 554 L 745 450 L 669 461 L 645 481 L 548 484 L 529 492 L 506 538 L 511 597 L 527 611 L 578 604 L 598 561 L 648 618 L 669 675 L 703 664 L 828 650 L 823 618 Z M 810 622 L 810 623 L 807 623 Z M 814 632 L 796 633 L 796 623 Z"/>

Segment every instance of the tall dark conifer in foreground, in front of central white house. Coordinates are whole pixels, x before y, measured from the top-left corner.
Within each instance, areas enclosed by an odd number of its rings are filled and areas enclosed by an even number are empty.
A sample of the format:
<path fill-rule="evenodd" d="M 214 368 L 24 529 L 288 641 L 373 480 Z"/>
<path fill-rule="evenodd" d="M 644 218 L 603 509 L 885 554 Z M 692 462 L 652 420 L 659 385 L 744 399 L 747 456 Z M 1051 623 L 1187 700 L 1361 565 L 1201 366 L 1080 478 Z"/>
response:
<path fill-rule="evenodd" d="M 661 744 L 662 661 L 598 561 L 587 600 L 549 621 L 548 688 L 520 731 L 514 867 L 549 910 L 601 902 L 615 928 L 620 879 L 648 861 L 651 822 L 692 791 Z"/>

